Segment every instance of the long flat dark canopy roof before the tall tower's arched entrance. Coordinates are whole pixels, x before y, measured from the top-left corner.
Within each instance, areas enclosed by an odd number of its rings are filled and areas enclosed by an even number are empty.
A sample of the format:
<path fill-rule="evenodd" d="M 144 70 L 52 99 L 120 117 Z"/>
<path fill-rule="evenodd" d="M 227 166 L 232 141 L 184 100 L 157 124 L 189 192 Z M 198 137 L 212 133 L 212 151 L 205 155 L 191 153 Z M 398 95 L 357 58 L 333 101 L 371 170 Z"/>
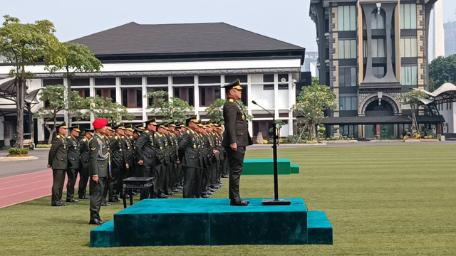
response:
<path fill-rule="evenodd" d="M 439 116 L 417 116 L 417 122 L 420 124 L 440 124 L 445 119 Z M 387 117 L 328 117 L 321 121 L 326 125 L 343 125 L 343 124 L 411 124 L 412 119 L 408 115 L 387 116 Z"/>

